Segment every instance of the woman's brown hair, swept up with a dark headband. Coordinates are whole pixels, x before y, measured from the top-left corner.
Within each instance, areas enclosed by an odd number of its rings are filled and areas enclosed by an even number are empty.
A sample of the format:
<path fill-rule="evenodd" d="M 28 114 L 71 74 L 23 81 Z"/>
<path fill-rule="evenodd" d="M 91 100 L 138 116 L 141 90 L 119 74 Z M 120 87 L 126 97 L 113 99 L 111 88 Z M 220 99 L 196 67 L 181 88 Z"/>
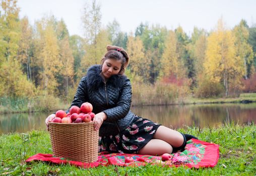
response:
<path fill-rule="evenodd" d="M 129 62 L 129 56 L 126 53 L 126 51 L 118 46 L 113 45 L 107 45 L 107 53 L 105 56 L 101 59 L 101 65 L 105 62 L 107 59 L 116 59 L 121 60 L 121 69 L 118 74 L 123 74 L 125 67 L 128 65 Z"/>

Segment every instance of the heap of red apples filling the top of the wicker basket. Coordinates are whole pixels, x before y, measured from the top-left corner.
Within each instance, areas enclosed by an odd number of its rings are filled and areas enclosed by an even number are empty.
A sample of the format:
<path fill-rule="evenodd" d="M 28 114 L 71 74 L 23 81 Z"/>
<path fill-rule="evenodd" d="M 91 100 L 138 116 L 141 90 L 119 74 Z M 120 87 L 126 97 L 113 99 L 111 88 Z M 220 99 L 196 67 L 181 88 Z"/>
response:
<path fill-rule="evenodd" d="M 70 112 L 66 114 L 63 110 L 58 110 L 54 118 L 49 122 L 54 123 L 84 123 L 92 122 L 95 114 L 92 112 L 92 104 L 86 102 L 81 107 L 72 106 Z"/>

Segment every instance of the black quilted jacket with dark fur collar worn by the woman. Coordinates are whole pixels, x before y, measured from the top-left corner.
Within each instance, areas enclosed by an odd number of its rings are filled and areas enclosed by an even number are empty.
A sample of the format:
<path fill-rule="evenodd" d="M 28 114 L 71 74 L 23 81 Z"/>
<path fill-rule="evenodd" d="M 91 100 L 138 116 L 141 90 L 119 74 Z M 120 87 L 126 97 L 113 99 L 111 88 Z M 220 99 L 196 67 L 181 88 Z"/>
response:
<path fill-rule="evenodd" d="M 79 82 L 71 107 L 81 107 L 84 102 L 89 102 L 93 113 L 104 112 L 107 119 L 101 125 L 99 135 L 109 136 L 124 130 L 134 120 L 135 115 L 130 111 L 132 86 L 124 75 L 112 75 L 104 83 L 100 72 L 100 65 L 88 69 Z"/>

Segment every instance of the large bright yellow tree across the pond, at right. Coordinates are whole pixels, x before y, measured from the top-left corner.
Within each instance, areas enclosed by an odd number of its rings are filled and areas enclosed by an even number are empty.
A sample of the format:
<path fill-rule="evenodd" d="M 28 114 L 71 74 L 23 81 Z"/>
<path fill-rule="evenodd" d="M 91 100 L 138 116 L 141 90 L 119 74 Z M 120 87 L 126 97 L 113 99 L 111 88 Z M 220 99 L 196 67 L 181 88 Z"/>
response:
<path fill-rule="evenodd" d="M 217 30 L 208 37 L 204 67 L 211 81 L 223 82 L 226 97 L 230 84 L 240 85 L 243 61 L 236 55 L 235 37 L 232 31 L 224 28 L 222 19 L 218 21 Z"/>

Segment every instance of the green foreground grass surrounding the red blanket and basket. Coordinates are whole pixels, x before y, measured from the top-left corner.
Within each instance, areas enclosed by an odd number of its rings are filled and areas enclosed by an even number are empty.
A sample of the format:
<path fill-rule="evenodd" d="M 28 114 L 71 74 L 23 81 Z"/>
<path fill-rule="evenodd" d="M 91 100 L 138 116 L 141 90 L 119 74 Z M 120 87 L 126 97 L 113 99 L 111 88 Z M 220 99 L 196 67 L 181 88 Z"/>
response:
<path fill-rule="evenodd" d="M 52 153 L 49 134 L 31 131 L 0 136 L 0 174 L 2 175 L 255 175 L 256 127 L 234 124 L 219 127 L 187 127 L 180 132 L 198 136 L 201 140 L 220 145 L 220 159 L 213 168 L 186 167 L 99 166 L 83 169 L 71 165 L 53 165 L 44 162 L 26 163 L 36 153 Z M 117 173 L 118 172 L 118 173 Z"/>

